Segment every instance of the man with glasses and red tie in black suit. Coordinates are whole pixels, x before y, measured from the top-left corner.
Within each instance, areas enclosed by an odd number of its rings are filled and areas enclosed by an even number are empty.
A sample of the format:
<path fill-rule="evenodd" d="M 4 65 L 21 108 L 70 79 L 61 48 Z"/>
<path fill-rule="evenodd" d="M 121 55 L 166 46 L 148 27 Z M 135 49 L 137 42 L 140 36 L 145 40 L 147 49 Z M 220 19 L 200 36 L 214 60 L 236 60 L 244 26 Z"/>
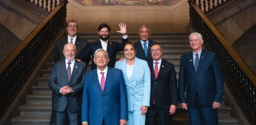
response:
<path fill-rule="evenodd" d="M 150 107 L 146 125 L 171 125 L 172 114 L 178 105 L 176 71 L 172 63 L 162 58 L 163 48 L 158 43 L 150 47 L 153 59 L 148 60 L 151 72 Z"/>

